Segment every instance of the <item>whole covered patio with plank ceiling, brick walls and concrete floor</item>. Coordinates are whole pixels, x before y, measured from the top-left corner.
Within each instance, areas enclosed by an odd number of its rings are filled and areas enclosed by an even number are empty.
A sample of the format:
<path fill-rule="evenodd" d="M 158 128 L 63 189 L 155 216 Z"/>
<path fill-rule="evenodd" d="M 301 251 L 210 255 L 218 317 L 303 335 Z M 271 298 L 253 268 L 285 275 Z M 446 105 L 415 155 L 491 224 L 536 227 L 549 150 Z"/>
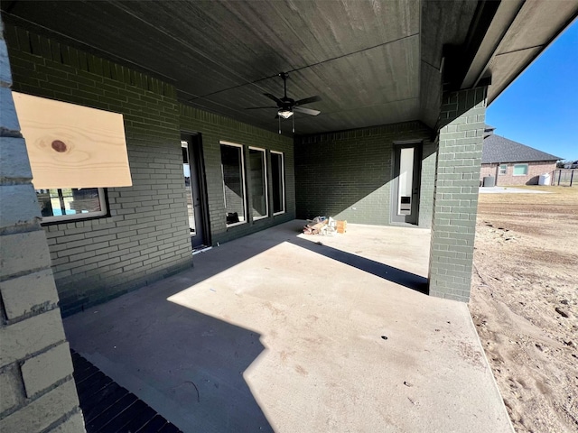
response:
<path fill-rule="evenodd" d="M 463 303 L 485 112 L 578 2 L 0 9 L 0 430 L 83 431 L 61 318 L 185 431 L 511 429 Z"/>

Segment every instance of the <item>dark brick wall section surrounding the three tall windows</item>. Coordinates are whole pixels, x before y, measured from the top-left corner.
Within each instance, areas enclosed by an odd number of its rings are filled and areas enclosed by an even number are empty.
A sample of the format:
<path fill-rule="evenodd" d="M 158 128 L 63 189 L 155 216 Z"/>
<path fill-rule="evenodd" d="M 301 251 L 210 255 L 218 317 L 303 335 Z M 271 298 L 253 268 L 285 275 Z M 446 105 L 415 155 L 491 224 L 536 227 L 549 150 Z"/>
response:
<path fill-rule="evenodd" d="M 295 176 L 293 139 L 281 134 L 243 124 L 221 115 L 201 111 L 192 106 L 180 105 L 181 129 L 188 133 L 200 133 L 205 163 L 207 195 L 209 198 L 210 232 L 212 244 L 223 243 L 238 237 L 255 233 L 266 227 L 275 226 L 295 218 Z M 246 170 L 248 173 L 248 147 L 266 149 L 267 167 L 271 167 L 270 151 L 284 153 L 285 168 L 285 213 L 273 216 L 273 179 L 271 170 L 267 173 L 269 217 L 253 220 L 247 208 L 246 224 L 227 226 L 225 201 L 223 197 L 223 175 L 221 172 L 220 142 L 243 145 Z M 247 186 L 247 206 L 253 202 L 253 195 Z"/>

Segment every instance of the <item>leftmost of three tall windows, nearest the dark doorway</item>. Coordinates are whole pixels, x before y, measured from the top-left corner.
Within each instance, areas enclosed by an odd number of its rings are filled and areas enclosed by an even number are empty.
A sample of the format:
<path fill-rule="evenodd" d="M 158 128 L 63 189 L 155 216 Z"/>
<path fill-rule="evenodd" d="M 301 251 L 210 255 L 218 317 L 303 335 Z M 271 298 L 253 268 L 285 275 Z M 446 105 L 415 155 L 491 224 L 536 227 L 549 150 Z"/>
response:
<path fill-rule="evenodd" d="M 247 221 L 243 146 L 221 142 L 220 162 L 223 173 L 223 196 L 227 226 L 237 226 Z"/>

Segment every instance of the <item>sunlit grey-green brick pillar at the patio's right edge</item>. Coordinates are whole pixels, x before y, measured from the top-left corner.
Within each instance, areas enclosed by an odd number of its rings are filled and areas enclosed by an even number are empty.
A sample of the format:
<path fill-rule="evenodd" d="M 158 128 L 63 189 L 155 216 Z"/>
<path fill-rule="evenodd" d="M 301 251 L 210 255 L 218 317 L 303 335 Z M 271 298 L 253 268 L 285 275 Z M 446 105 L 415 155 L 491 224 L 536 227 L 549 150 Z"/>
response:
<path fill-rule="evenodd" d="M 443 95 L 433 190 L 430 294 L 470 299 L 487 88 Z"/>

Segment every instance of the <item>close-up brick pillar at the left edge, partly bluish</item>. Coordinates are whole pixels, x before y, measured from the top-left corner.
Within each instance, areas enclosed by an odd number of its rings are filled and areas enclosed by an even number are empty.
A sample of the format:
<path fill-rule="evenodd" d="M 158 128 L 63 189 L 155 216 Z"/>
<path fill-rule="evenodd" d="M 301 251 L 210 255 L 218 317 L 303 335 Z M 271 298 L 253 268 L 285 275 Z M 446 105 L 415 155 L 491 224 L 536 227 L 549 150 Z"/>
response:
<path fill-rule="evenodd" d="M 0 20 L 0 431 L 84 430 Z"/>

